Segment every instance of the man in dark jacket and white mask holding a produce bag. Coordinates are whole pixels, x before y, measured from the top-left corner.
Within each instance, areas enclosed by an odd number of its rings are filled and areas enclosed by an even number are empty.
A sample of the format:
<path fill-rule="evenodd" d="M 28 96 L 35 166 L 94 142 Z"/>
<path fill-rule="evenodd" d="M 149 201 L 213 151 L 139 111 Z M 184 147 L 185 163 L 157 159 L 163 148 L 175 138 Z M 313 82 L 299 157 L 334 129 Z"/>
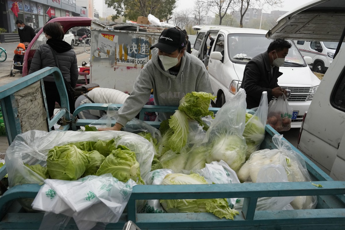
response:
<path fill-rule="evenodd" d="M 284 39 L 276 39 L 271 42 L 267 51 L 258 54 L 247 64 L 243 72 L 241 88 L 246 91 L 247 109 L 259 106 L 262 92 L 267 91 L 267 98 L 270 101 L 273 97 L 278 98 L 285 89 L 278 85 L 278 77 L 283 73 L 279 72 L 279 67 L 284 64 L 291 44 Z"/>

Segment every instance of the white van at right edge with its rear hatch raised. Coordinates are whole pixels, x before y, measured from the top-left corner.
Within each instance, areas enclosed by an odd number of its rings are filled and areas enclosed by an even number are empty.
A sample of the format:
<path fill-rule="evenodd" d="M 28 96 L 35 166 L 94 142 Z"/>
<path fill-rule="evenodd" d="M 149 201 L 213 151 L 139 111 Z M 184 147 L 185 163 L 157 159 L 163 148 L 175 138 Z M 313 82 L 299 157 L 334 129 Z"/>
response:
<path fill-rule="evenodd" d="M 266 36 L 343 42 L 344 16 L 345 1 L 314 0 L 282 16 Z M 298 148 L 333 179 L 345 180 L 345 49 L 337 52 L 305 115 Z"/>

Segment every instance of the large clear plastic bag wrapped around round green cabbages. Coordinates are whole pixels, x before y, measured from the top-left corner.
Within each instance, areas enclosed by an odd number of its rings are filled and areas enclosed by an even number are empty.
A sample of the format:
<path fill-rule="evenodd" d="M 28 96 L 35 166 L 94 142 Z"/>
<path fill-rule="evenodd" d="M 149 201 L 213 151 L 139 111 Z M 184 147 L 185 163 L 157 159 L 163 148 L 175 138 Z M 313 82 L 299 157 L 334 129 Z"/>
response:
<path fill-rule="evenodd" d="M 144 178 L 151 170 L 151 163 L 155 149 L 143 137 L 130 132 L 101 131 L 101 132 L 75 132 L 75 131 L 40 131 L 30 130 L 16 136 L 6 152 L 6 165 L 9 186 L 17 184 L 43 182 L 43 178 L 30 170 L 25 164 L 40 164 L 45 167 L 48 151 L 55 146 L 63 146 L 80 141 L 108 141 L 116 138 L 118 143 L 127 146 L 136 153 L 140 165 L 140 176 Z"/>

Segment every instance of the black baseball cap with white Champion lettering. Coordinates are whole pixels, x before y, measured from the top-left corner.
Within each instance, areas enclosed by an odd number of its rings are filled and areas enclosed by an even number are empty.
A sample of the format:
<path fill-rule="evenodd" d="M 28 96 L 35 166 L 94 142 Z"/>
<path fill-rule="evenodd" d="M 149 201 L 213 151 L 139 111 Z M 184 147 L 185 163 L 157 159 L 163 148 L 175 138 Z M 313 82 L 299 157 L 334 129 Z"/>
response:
<path fill-rule="evenodd" d="M 162 31 L 159 36 L 158 43 L 151 46 L 160 49 L 165 53 L 172 53 L 178 48 L 186 47 L 186 35 L 183 31 L 176 28 L 169 28 Z"/>

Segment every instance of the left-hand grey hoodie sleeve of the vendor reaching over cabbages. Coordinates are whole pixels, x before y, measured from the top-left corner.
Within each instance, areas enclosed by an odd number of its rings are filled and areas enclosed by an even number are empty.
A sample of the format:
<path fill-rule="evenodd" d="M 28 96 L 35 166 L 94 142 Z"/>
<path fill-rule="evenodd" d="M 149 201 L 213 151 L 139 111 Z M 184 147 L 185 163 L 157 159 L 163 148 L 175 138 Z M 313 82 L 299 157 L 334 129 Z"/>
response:
<path fill-rule="evenodd" d="M 153 89 L 152 76 L 144 68 L 140 71 L 130 96 L 119 109 L 119 118 L 116 122 L 125 126 L 128 121 L 137 116 L 142 107 L 149 100 L 151 89 Z"/>

